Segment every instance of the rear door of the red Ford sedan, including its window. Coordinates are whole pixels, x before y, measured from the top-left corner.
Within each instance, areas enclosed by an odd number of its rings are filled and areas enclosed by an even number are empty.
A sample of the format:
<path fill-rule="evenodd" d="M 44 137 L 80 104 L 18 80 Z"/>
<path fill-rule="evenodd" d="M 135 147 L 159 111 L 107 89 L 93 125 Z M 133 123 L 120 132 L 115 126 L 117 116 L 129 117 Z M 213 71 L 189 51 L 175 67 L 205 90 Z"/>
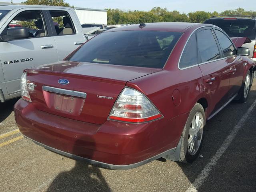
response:
<path fill-rule="evenodd" d="M 209 112 L 217 112 L 228 99 L 229 67 L 222 58 L 220 46 L 212 28 L 201 28 L 196 32 L 198 63 L 204 78 L 206 94 L 210 98 Z"/>

